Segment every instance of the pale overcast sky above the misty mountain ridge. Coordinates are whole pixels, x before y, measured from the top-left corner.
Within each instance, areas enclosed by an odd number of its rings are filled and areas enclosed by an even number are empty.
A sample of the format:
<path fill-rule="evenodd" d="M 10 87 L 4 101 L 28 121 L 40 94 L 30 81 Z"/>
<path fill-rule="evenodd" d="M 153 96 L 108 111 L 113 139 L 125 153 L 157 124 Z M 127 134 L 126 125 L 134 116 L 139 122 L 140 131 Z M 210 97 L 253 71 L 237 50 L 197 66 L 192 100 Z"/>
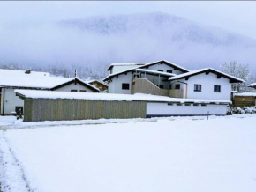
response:
<path fill-rule="evenodd" d="M 1 23 L 161 11 L 256 39 L 256 2 L 0 2 Z M 1 24 L 0 24 L 1 25 Z"/>

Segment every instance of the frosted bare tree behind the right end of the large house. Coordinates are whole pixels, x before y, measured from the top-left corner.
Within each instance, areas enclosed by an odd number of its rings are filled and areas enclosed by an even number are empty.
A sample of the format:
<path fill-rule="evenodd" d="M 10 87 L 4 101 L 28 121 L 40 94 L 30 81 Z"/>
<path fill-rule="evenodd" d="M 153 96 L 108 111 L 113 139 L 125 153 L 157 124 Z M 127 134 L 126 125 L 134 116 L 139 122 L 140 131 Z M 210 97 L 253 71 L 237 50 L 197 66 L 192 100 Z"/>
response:
<path fill-rule="evenodd" d="M 241 64 L 237 63 L 236 61 L 230 61 L 230 63 L 223 63 L 222 71 L 237 77 L 243 79 L 245 82 L 240 84 L 232 84 L 232 91 L 238 91 L 238 92 L 250 92 L 252 91 L 251 88 L 249 88 L 247 85 L 252 82 L 251 78 L 251 70 L 249 68 L 248 64 Z"/>

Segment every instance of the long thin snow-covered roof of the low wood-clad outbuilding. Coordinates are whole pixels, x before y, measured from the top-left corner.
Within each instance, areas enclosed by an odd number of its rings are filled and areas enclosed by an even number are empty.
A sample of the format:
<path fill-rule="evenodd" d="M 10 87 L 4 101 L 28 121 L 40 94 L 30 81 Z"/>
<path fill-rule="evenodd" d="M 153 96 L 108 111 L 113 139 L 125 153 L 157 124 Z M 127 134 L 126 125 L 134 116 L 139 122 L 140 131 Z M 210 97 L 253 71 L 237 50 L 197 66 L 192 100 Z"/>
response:
<path fill-rule="evenodd" d="M 113 93 L 90 93 L 90 92 L 51 92 L 34 90 L 15 90 L 22 98 L 33 99 L 74 99 L 74 100 L 126 100 L 126 101 L 154 101 L 154 102 L 177 102 L 177 103 L 216 103 L 229 104 L 230 100 L 199 100 L 199 99 L 179 99 L 166 96 L 150 94 L 113 94 Z"/>

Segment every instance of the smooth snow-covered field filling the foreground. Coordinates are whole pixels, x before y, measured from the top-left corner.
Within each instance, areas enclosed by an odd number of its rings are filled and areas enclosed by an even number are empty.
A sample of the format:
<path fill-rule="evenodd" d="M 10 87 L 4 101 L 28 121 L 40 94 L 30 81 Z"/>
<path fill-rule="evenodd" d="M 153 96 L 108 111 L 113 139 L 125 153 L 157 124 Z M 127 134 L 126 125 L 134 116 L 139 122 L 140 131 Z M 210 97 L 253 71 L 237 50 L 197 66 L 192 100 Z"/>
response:
<path fill-rule="evenodd" d="M 0 118 L 4 192 L 256 191 L 255 114 L 116 123 L 9 118 Z"/>

